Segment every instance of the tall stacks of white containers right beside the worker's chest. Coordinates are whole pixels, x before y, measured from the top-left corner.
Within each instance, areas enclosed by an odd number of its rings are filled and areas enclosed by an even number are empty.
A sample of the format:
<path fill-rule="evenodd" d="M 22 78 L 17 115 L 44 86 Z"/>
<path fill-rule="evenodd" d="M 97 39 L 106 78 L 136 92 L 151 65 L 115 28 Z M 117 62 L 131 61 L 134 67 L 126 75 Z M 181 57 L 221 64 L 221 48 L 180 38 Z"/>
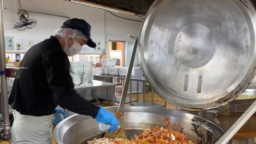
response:
<path fill-rule="evenodd" d="M 92 62 L 70 62 L 70 76 L 75 85 L 88 84 L 94 76 Z"/>

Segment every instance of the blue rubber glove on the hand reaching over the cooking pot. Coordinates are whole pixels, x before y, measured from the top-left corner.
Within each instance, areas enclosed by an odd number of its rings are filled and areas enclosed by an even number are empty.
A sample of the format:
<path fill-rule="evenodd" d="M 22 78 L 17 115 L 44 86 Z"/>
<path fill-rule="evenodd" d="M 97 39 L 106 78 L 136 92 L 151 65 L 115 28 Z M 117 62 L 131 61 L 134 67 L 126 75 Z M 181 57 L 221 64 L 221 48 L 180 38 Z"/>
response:
<path fill-rule="evenodd" d="M 97 122 L 101 122 L 103 124 L 109 124 L 110 127 L 110 133 L 114 132 L 117 128 L 117 126 L 120 126 L 118 120 L 116 119 L 116 116 L 112 114 L 111 112 L 108 112 L 100 106 L 100 109 L 98 110 L 98 114 L 95 117 Z"/>

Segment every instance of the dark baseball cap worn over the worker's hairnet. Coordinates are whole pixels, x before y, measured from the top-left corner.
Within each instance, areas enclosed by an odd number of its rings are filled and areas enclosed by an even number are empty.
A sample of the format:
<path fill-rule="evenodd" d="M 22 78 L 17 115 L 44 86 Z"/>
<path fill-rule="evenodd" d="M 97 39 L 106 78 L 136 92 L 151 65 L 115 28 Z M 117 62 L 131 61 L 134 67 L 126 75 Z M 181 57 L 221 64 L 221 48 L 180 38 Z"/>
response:
<path fill-rule="evenodd" d="M 79 30 L 88 38 L 88 42 L 86 44 L 91 48 L 96 47 L 96 44 L 93 42 L 91 38 L 91 26 L 85 20 L 78 19 L 78 18 L 71 18 L 66 22 L 64 22 L 61 28 L 71 28 L 74 30 Z"/>

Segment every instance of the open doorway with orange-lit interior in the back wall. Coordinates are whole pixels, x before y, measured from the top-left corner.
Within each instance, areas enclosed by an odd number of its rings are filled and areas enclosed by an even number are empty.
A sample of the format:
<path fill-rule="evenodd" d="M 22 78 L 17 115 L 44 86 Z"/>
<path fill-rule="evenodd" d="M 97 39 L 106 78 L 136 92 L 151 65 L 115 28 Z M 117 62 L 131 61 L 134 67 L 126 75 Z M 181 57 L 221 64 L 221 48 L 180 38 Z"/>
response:
<path fill-rule="evenodd" d="M 109 58 L 116 59 L 116 66 L 125 66 L 125 42 L 111 40 L 108 42 Z"/>

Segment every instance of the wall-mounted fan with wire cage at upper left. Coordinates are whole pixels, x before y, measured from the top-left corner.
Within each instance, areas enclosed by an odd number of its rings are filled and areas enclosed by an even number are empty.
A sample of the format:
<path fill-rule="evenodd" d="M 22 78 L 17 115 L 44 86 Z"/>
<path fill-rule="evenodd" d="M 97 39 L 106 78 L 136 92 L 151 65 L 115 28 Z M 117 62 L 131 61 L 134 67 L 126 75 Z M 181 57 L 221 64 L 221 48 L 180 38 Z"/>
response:
<path fill-rule="evenodd" d="M 29 20 L 28 12 L 26 10 L 22 10 L 20 0 L 18 0 L 18 2 L 20 5 L 20 10 L 18 12 L 20 22 L 17 22 L 16 24 L 14 24 L 14 28 L 16 30 L 27 30 L 27 29 L 34 28 L 37 24 L 37 21 L 34 19 Z"/>

